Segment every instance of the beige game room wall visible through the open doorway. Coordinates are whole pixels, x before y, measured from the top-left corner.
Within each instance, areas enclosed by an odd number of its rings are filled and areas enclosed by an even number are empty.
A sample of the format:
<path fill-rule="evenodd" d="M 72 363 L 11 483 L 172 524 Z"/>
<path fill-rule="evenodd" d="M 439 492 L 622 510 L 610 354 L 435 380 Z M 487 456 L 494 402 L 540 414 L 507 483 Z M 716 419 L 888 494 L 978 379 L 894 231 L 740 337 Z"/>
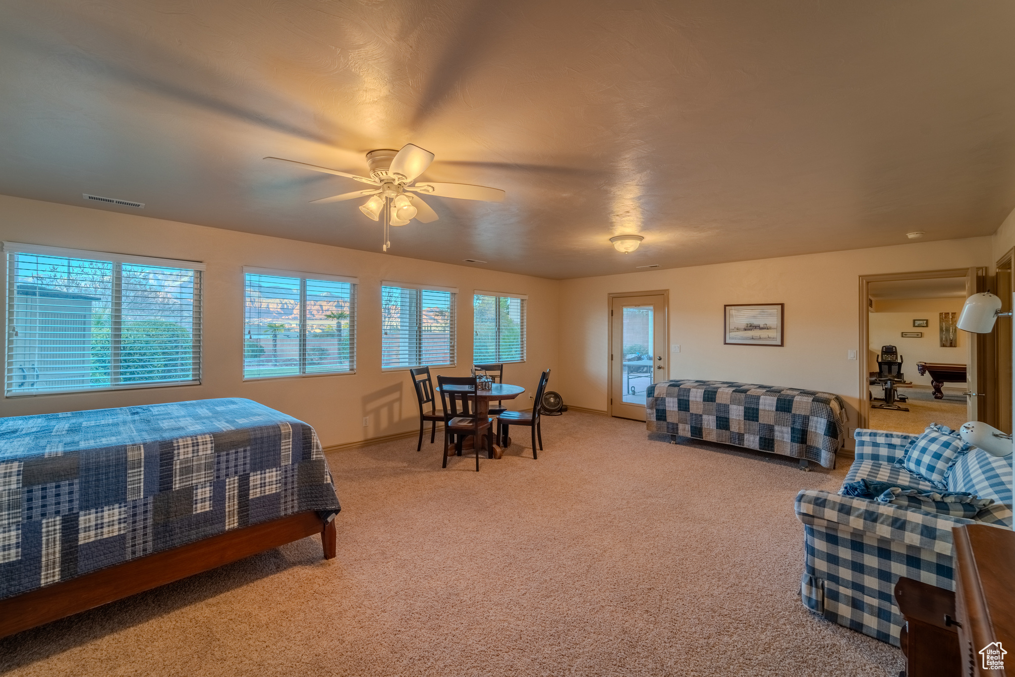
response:
<path fill-rule="evenodd" d="M 869 336 L 871 349 L 871 371 L 877 369 L 877 357 L 881 346 L 894 345 L 902 359 L 902 373 L 906 381 L 919 386 L 931 386 L 930 375 L 920 376 L 917 362 L 948 362 L 965 364 L 968 357 L 968 337 L 965 332 L 956 332 L 955 347 L 942 348 L 940 335 L 940 313 L 960 313 L 964 298 L 907 298 L 878 300 L 874 313 L 870 314 Z M 927 327 L 913 327 L 912 321 L 928 321 Z M 923 338 L 902 338 L 902 332 L 922 332 Z M 958 384 L 949 387 L 957 388 Z M 964 388 L 962 389 L 964 390 Z"/>

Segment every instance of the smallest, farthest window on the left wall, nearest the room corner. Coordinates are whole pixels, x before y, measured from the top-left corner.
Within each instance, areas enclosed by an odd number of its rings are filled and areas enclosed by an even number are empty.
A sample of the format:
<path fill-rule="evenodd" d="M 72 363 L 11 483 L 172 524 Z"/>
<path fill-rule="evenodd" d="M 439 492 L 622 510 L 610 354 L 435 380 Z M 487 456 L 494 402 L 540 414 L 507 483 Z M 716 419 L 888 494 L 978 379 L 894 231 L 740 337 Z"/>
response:
<path fill-rule="evenodd" d="M 476 291 L 472 297 L 472 363 L 525 361 L 527 296 Z"/>

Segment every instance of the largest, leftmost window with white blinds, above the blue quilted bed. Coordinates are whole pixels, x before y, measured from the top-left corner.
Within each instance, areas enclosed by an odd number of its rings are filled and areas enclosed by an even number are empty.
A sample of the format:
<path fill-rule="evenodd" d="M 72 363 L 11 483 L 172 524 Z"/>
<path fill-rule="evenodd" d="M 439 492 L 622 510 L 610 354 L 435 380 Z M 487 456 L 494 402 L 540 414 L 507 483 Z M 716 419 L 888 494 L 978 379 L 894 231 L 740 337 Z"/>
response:
<path fill-rule="evenodd" d="M 200 383 L 203 264 L 3 247 L 8 397 Z"/>

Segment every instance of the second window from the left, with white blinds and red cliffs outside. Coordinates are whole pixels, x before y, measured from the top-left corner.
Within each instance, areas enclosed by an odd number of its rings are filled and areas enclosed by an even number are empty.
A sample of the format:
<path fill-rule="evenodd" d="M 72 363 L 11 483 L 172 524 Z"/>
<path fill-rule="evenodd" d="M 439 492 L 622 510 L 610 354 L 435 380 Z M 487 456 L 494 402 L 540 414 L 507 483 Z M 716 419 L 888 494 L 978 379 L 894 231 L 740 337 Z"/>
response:
<path fill-rule="evenodd" d="M 244 268 L 244 378 L 356 369 L 352 277 Z"/>

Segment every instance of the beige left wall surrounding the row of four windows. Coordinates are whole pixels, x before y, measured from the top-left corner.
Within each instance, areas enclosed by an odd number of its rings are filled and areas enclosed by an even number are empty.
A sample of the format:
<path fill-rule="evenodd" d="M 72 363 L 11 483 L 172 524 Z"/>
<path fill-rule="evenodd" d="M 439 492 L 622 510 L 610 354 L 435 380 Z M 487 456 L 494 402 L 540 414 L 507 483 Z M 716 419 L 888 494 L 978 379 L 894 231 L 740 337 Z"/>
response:
<path fill-rule="evenodd" d="M 458 366 L 435 369 L 435 374 L 469 373 L 474 289 L 529 295 L 528 360 L 507 365 L 504 374 L 510 383 L 525 386 L 527 393 L 511 405 L 531 407 L 529 396 L 535 390 L 540 370 L 554 369 L 551 386 L 555 385 L 559 370 L 559 283 L 555 280 L 6 196 L 0 196 L 0 239 L 202 261 L 207 266 L 204 374 L 200 386 L 4 398 L 0 400 L 0 413 L 4 416 L 247 397 L 314 425 L 325 446 L 414 429 L 418 424 L 418 409 L 408 371 L 381 370 L 382 280 L 458 287 Z M 356 374 L 244 382 L 242 270 L 245 265 L 358 277 Z M 366 428 L 361 425 L 363 416 L 370 417 Z"/>

